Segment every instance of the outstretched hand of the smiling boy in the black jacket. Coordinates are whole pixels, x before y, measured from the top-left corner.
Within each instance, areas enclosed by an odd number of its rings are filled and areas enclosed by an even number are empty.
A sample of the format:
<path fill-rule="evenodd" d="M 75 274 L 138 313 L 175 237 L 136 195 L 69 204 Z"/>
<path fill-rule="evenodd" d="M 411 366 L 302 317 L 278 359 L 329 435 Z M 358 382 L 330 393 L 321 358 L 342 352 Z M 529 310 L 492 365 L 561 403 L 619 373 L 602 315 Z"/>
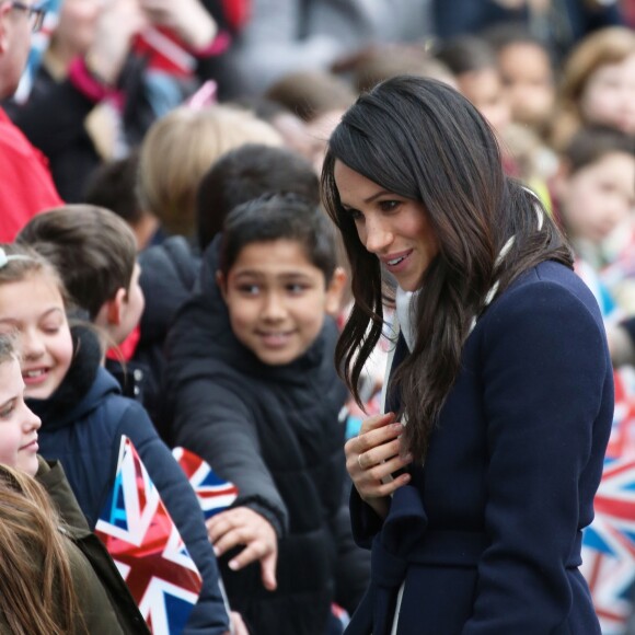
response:
<path fill-rule="evenodd" d="M 245 549 L 229 563 L 229 568 L 240 570 L 261 561 L 265 589 L 275 591 L 278 538 L 272 524 L 249 507 L 235 507 L 212 516 L 207 522 L 207 535 L 217 556 L 240 544 Z"/>

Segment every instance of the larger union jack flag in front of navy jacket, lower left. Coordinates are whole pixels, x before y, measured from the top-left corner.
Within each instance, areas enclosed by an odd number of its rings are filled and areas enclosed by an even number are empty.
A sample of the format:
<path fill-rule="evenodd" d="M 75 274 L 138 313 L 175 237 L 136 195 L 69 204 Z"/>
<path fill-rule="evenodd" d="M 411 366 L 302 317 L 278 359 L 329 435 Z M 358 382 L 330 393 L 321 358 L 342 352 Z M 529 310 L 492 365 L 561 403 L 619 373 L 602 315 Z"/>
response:
<path fill-rule="evenodd" d="M 95 533 L 152 633 L 181 633 L 198 600 L 201 578 L 127 437 L 122 437 L 115 484 Z"/>

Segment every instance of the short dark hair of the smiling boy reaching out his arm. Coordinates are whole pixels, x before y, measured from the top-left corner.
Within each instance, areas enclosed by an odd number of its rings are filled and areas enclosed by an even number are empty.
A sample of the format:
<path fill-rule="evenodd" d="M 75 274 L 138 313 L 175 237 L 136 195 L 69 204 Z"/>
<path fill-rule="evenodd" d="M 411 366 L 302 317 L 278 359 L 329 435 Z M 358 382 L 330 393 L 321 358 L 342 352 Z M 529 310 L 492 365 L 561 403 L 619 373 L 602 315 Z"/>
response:
<path fill-rule="evenodd" d="M 241 251 L 250 244 L 296 241 L 326 284 L 337 266 L 334 228 L 315 203 L 293 194 L 261 196 L 233 209 L 226 219 L 219 269 L 227 277 Z"/>

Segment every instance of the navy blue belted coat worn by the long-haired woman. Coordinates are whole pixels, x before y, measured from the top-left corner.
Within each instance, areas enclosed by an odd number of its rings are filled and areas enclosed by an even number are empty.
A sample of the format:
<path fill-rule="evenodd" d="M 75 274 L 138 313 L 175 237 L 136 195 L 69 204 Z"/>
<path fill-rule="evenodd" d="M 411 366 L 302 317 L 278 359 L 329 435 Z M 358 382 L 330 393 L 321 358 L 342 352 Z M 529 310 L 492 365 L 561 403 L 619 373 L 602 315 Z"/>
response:
<path fill-rule="evenodd" d="M 404 581 L 399 635 L 599 634 L 578 566 L 612 414 L 596 301 L 543 263 L 467 338 L 425 465 L 388 518 L 353 494 L 372 580 L 347 634 L 388 635 Z"/>

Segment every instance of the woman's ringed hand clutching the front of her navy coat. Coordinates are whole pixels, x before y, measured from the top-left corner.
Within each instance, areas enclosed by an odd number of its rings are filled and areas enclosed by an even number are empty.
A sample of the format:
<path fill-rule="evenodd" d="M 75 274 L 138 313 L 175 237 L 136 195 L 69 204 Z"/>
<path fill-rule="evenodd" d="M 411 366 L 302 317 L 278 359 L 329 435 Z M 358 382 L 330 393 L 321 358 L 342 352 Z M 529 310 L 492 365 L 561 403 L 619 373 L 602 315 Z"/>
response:
<path fill-rule="evenodd" d="M 411 454 L 400 454 L 402 432 L 393 413 L 377 415 L 366 419 L 359 435 L 344 446 L 346 470 L 355 488 L 381 518 L 388 515 L 389 496 L 411 480 L 409 474 L 391 477 L 413 460 Z"/>

